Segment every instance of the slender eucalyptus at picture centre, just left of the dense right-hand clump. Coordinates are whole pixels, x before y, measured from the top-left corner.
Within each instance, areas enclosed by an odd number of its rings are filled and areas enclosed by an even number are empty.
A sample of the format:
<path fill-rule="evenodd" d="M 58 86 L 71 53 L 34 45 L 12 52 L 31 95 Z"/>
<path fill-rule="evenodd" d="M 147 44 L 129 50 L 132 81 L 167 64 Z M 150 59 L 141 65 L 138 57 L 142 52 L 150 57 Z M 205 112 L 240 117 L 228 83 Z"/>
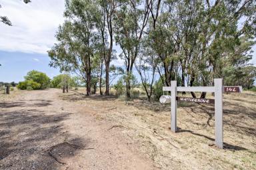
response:
<path fill-rule="evenodd" d="M 114 11 L 113 30 L 115 32 L 115 42 L 122 50 L 119 57 L 125 60 L 125 85 L 128 98 L 131 97 L 133 65 L 139 54 L 141 39 L 145 34 L 149 18 L 148 1 L 119 1 Z"/>

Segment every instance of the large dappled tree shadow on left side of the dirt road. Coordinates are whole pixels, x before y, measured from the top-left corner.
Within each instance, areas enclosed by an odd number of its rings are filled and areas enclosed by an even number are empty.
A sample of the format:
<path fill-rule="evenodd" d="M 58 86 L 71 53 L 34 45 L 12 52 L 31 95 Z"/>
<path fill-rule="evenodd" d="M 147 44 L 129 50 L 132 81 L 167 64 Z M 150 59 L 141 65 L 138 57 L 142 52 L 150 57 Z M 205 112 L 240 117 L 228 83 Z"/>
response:
<path fill-rule="evenodd" d="M 19 106 L 24 105 L 23 102 L 19 103 Z M 4 106 L 4 108 L 17 107 L 17 102 Z M 0 169 L 58 169 L 63 166 L 55 160 L 56 156 L 49 154 L 49 148 L 63 142 L 64 138 L 70 138 L 62 124 L 62 121 L 70 115 L 69 113 L 46 114 L 36 109 L 1 111 Z M 81 145 L 85 143 L 82 140 L 75 138 L 69 142 Z M 77 151 L 77 148 L 68 145 L 59 145 L 57 149 L 63 152 L 63 155 L 58 155 L 59 159 L 72 157 Z M 53 154 L 56 154 L 57 149 Z"/>

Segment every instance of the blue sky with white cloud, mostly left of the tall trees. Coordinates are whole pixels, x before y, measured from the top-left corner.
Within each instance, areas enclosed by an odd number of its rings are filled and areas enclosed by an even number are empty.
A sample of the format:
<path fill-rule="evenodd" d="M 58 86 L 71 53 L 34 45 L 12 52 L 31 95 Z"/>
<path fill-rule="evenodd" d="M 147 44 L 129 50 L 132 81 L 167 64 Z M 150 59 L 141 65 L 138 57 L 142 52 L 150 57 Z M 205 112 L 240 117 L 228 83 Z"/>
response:
<path fill-rule="evenodd" d="M 19 82 L 29 70 L 45 72 L 50 78 L 60 74 L 49 67 L 47 50 L 56 42 L 55 33 L 63 23 L 64 0 L 1 0 L 0 16 L 7 16 L 12 27 L 0 23 L 0 82 Z M 119 48 L 115 46 L 117 54 Z M 253 47 L 256 65 L 256 47 Z M 115 60 L 115 66 L 123 62 Z"/>

